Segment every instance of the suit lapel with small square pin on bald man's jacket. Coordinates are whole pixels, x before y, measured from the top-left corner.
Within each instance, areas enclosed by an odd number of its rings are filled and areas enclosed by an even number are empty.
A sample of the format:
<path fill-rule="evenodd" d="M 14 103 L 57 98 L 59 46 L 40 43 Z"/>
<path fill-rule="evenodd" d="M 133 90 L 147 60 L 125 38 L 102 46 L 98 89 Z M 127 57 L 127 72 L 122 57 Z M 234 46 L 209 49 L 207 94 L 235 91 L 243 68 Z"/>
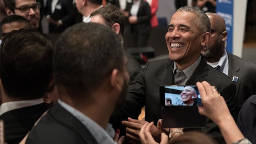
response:
<path fill-rule="evenodd" d="M 240 87 L 240 82 L 241 82 L 241 78 L 242 76 L 238 73 L 240 68 L 237 65 L 237 61 L 232 57 L 232 55 L 227 52 L 227 56 L 228 56 L 228 77 L 230 77 L 231 81 L 234 82 L 234 84 L 236 85 L 236 96 L 238 93 L 238 89 Z M 238 81 L 234 81 L 233 78 L 237 77 Z"/>

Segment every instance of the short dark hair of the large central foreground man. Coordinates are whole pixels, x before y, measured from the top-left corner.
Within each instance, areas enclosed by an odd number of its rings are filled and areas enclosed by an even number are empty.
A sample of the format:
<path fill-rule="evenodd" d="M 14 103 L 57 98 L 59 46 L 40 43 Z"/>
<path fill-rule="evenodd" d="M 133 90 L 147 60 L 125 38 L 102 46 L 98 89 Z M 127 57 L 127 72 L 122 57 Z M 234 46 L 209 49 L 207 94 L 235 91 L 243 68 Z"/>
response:
<path fill-rule="evenodd" d="M 113 69 L 123 70 L 123 63 L 124 51 L 116 33 L 99 23 L 79 23 L 58 38 L 53 73 L 57 85 L 89 92 Z"/>

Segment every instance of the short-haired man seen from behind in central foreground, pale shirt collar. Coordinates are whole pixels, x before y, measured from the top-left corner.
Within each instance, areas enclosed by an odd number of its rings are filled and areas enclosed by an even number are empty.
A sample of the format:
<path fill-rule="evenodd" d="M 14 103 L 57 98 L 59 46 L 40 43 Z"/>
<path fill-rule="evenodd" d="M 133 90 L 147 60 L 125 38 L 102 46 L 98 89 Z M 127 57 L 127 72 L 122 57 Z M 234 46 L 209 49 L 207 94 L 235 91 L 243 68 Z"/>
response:
<path fill-rule="evenodd" d="M 76 24 L 59 37 L 53 61 L 58 104 L 26 144 L 116 144 L 108 121 L 125 99 L 129 79 L 119 37 L 98 23 Z"/>

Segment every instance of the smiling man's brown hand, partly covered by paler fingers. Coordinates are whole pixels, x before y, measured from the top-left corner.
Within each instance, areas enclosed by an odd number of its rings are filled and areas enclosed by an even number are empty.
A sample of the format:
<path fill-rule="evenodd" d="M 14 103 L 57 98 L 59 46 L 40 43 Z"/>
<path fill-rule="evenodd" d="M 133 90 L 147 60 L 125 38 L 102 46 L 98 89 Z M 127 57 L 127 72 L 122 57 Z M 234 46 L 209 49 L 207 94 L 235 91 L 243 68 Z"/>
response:
<path fill-rule="evenodd" d="M 126 138 L 129 143 L 140 144 L 139 132 L 145 123 L 148 122 L 132 118 L 128 118 L 128 121 L 122 121 L 122 124 L 126 127 Z M 153 125 L 150 132 L 154 139 L 160 141 L 161 131 L 156 126 Z"/>

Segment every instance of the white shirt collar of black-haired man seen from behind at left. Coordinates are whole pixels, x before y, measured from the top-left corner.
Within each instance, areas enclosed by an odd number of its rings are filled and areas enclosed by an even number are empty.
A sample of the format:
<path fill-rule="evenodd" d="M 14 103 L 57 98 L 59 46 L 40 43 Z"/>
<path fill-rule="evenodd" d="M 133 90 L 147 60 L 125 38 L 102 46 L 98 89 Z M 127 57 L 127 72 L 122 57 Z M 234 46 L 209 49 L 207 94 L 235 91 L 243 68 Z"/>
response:
<path fill-rule="evenodd" d="M 43 98 L 38 98 L 35 100 L 27 100 L 27 101 L 10 101 L 3 103 L 0 107 L 0 115 L 2 115 L 5 112 L 11 111 L 13 109 L 19 109 L 23 107 L 29 107 L 37 104 L 43 103 Z"/>

